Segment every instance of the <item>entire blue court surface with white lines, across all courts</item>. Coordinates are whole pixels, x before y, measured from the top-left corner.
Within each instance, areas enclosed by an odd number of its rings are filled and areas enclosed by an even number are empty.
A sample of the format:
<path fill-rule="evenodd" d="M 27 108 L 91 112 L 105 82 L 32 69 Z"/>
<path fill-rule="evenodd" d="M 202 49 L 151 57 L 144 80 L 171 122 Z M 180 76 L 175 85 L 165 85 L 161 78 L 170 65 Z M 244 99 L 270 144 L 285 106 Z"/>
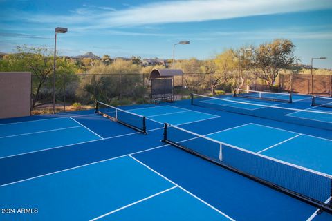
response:
<path fill-rule="evenodd" d="M 317 112 L 304 108 L 313 110 L 311 96 L 292 104 L 197 96 L 2 119 L 1 206 L 37 209 L 37 220 L 331 220 L 319 207 L 331 205 L 332 134 L 320 128 L 331 126 L 329 108 L 317 108 L 326 125 L 314 127 Z M 298 124 L 246 113 L 276 104 L 271 115 Z M 129 125 L 104 117 L 113 113 Z M 145 133 L 129 127 L 141 116 Z"/>

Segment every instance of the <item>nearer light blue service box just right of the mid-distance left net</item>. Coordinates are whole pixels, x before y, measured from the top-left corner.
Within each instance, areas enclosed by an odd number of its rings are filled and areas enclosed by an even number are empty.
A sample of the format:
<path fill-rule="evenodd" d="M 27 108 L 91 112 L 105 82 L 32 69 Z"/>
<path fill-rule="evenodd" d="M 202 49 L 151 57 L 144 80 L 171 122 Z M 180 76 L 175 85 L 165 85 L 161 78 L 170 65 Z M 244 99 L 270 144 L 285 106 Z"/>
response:
<path fill-rule="evenodd" d="M 188 110 L 188 111 L 183 111 L 183 112 L 179 112 L 179 113 L 156 115 L 156 116 L 147 117 L 147 118 L 152 119 L 156 122 L 160 122 L 160 123 L 179 125 L 179 124 L 188 124 L 188 123 L 192 123 L 192 122 L 199 122 L 199 121 L 206 120 L 206 119 L 213 119 L 216 117 L 219 117 L 219 116 Z"/>

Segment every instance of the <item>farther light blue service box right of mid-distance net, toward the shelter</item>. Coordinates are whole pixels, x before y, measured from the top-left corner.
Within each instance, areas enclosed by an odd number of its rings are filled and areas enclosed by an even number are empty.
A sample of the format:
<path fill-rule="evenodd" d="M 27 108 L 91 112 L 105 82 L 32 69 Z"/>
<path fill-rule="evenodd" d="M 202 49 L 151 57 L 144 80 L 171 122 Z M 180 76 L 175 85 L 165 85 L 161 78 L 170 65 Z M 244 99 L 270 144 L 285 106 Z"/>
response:
<path fill-rule="evenodd" d="M 183 111 L 188 111 L 185 108 L 177 108 L 175 106 L 151 106 L 149 108 L 137 108 L 128 110 L 131 113 L 136 113 L 145 117 L 151 117 L 155 115 L 164 115 L 169 113 L 178 113 Z"/>

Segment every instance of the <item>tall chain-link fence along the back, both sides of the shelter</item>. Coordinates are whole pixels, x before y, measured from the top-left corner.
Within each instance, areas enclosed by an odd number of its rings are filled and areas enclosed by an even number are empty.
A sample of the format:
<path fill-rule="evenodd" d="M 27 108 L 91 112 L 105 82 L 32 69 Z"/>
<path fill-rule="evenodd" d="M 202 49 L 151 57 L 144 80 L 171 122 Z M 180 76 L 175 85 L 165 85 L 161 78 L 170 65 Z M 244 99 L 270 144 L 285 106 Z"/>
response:
<path fill-rule="evenodd" d="M 271 88 L 259 74 L 243 73 L 185 73 L 174 77 L 176 99 L 189 99 L 190 93 L 222 95 L 236 88 L 250 90 L 293 91 L 293 93 L 330 95 L 332 75 L 279 75 Z M 113 106 L 149 102 L 149 74 L 73 74 L 55 77 L 55 111 L 75 111 L 94 108 L 95 100 Z M 313 82 L 313 84 L 312 84 Z M 32 113 L 52 113 L 53 75 L 32 77 Z"/>

